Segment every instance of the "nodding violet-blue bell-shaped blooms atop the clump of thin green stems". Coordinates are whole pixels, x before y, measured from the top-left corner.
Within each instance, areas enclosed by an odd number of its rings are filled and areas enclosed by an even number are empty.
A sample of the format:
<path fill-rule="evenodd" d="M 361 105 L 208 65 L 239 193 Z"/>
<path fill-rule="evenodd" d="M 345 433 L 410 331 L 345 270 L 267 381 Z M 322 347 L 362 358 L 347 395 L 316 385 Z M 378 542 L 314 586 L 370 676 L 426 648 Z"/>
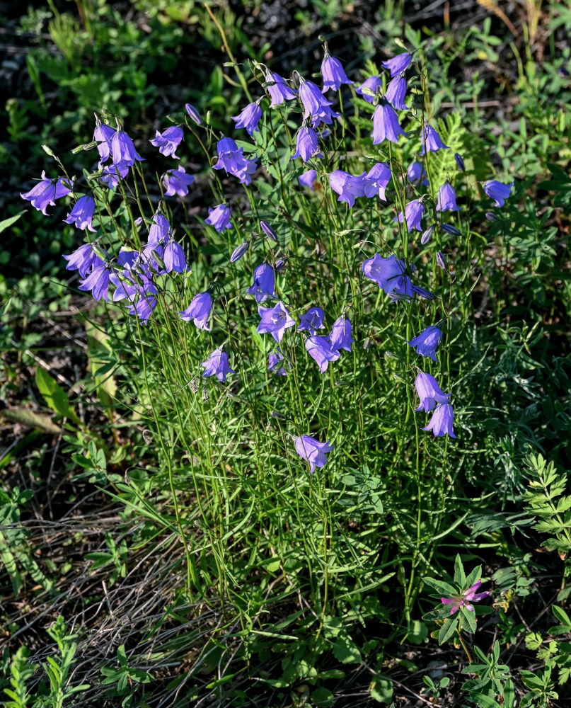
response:
<path fill-rule="evenodd" d="M 263 341 L 268 336 L 274 341 L 272 351 L 269 355 L 266 351 L 258 371 L 269 377 L 272 386 L 279 387 L 295 373 L 295 367 L 311 365 L 325 376 L 330 367 L 342 365 L 340 360 L 352 360 L 355 356 L 352 345 L 362 344 L 367 333 L 367 313 L 374 307 L 374 286 L 378 286 L 383 297 L 388 297 L 391 308 L 414 310 L 417 319 L 425 323 L 417 333 L 398 333 L 408 362 L 408 385 L 411 392 L 415 388 L 419 399 L 415 411 L 431 414 L 422 430 L 436 437 L 456 438 L 451 391 L 444 392 L 441 388 L 443 385 L 453 389 L 454 384 L 444 368 L 435 376 L 423 371 L 420 365 L 427 367 L 428 363 L 436 373 L 441 365 L 437 349 L 445 346 L 454 326 L 442 304 L 444 286 L 439 286 L 436 275 L 429 285 L 427 264 L 432 261 L 433 270 L 439 266 L 442 278 L 450 277 L 448 263 L 454 256 L 454 239 L 461 236 L 460 222 L 457 220 L 454 225 L 443 223 L 442 219 L 452 221 L 463 215 L 465 194 L 456 191 L 463 183 L 455 181 L 455 174 L 463 172 L 466 166 L 461 155 L 453 154 L 446 144 L 454 136 L 446 135 L 445 142 L 439 124 L 432 117 L 429 120 L 425 113 L 421 115 L 415 105 L 420 93 L 410 92 L 410 87 L 419 81 L 415 52 L 400 53 L 383 62 L 382 67 L 377 74 L 364 79 L 356 75 L 351 79 L 327 45 L 321 64 L 321 86 L 298 72 L 283 77 L 256 64 L 259 96 L 248 101 L 238 115 L 231 116 L 233 137 L 217 134 L 209 125 L 208 116 L 202 120 L 190 103 L 180 106 L 178 123 L 156 130 L 154 137 L 147 136 L 146 140 L 132 139 L 119 121 L 112 125 L 97 118 L 92 147 L 97 149 L 98 160 L 91 176 L 81 180 L 67 173 L 47 177 L 44 172 L 41 180 L 21 196 L 44 214 L 57 200 L 67 200 L 65 222 L 83 231 L 87 239 L 64 256 L 66 268 L 76 270 L 79 275 L 80 290 L 91 292 L 96 299 L 122 303 L 125 311 L 143 326 L 154 318 L 166 316 L 168 310 L 180 318 L 182 326 L 190 328 L 188 336 L 208 336 L 202 346 L 204 359 L 192 365 L 204 368 L 203 377 L 216 377 L 219 383 L 213 385 L 225 384 L 226 377 L 238 372 L 246 386 L 244 377 L 253 375 L 239 372 L 239 363 L 237 370 L 231 369 L 230 360 L 237 361 L 232 355 L 233 338 L 222 341 L 220 323 L 236 308 L 236 297 L 245 302 L 250 331 L 255 331 Z M 383 86 L 386 86 L 384 93 Z M 346 93 L 351 101 L 342 103 L 340 93 Z M 340 122 L 350 126 L 354 115 L 354 108 L 343 109 L 342 105 L 355 103 L 359 106 L 360 120 L 363 115 L 369 120 L 368 147 L 374 161 L 369 162 L 367 169 L 358 161 L 345 159 L 344 151 L 336 149 L 340 145 Z M 394 239 L 381 238 L 380 232 L 371 233 L 367 245 L 362 246 L 366 257 L 360 268 L 339 268 L 335 275 L 344 280 L 340 290 L 357 293 L 362 287 L 363 295 L 359 295 L 363 297 L 362 307 L 348 298 L 342 302 L 324 301 L 325 282 L 313 291 L 311 302 L 304 301 L 301 292 L 291 287 L 288 258 L 292 255 L 301 258 L 304 254 L 303 248 L 289 253 L 287 246 L 280 244 L 276 232 L 278 224 L 285 222 L 283 213 L 274 209 L 269 220 L 247 226 L 244 223 L 241 207 L 247 200 L 256 199 L 252 197 L 253 183 L 277 179 L 275 170 L 262 170 L 260 166 L 267 166 L 268 159 L 265 123 L 279 120 L 294 121 L 296 125 L 289 156 L 286 155 L 289 159 L 276 160 L 280 163 L 279 173 L 283 170 L 291 173 L 289 185 L 294 185 L 299 199 L 323 199 L 326 202 L 323 209 L 345 216 L 357 204 L 371 213 L 379 208 L 392 211 L 386 224 L 391 224 Z M 197 130 L 202 131 L 200 144 L 207 146 L 204 172 L 210 177 L 213 190 L 212 200 L 202 204 L 197 227 L 203 229 L 204 243 L 218 234 L 229 244 L 224 268 L 211 273 L 209 284 L 199 288 L 190 286 L 190 244 L 180 236 L 183 229 L 171 212 L 175 200 L 184 200 L 195 183 L 195 175 L 184 162 L 186 146 Z M 90 146 L 83 146 L 87 147 Z M 163 200 L 153 213 L 138 198 L 144 184 L 144 156 L 139 151 L 145 154 L 151 148 L 158 149 L 164 161 L 159 185 Z M 446 178 L 435 181 L 432 154 L 442 155 L 446 151 L 449 172 Z M 399 163 L 396 155 L 400 154 L 407 154 L 408 166 Z M 59 161 L 58 164 L 62 166 Z M 481 188 L 495 207 L 501 208 L 513 185 L 513 181 L 502 183 L 490 178 Z M 113 216 L 114 200 L 121 199 L 127 200 L 132 213 L 138 213 L 125 229 L 127 234 L 131 229 L 131 237 L 117 247 L 105 229 L 108 217 Z M 259 201 L 260 206 L 268 208 L 264 200 Z M 388 207 L 389 203 L 393 206 Z M 237 239 L 234 234 L 238 234 Z M 369 244 L 377 244 L 376 249 Z M 305 247 L 308 255 L 316 243 L 308 239 Z M 413 263 L 421 253 L 422 257 Z M 338 258 L 338 253 L 334 257 Z M 241 290 L 236 292 L 243 268 L 248 270 L 248 282 L 242 279 Z M 332 282 L 329 285 L 333 287 Z M 442 319 L 436 324 L 432 303 L 441 310 Z M 364 312 L 364 319 L 354 330 L 350 312 L 359 309 Z M 417 365 L 411 360 L 414 356 Z M 335 433 L 331 434 L 335 438 Z M 316 435 L 321 439 L 328 437 L 326 431 Z M 310 472 L 323 467 L 325 454 L 335 448 L 330 440 L 319 442 L 318 438 L 301 434 L 293 440 L 293 449 L 308 462 Z M 352 441 L 342 440 L 337 450 L 344 447 L 350 449 Z M 463 590 L 462 595 L 451 595 L 461 598 L 458 603 L 454 600 L 459 610 L 469 610 L 470 593 L 473 598 L 478 595 L 476 582 Z"/>

